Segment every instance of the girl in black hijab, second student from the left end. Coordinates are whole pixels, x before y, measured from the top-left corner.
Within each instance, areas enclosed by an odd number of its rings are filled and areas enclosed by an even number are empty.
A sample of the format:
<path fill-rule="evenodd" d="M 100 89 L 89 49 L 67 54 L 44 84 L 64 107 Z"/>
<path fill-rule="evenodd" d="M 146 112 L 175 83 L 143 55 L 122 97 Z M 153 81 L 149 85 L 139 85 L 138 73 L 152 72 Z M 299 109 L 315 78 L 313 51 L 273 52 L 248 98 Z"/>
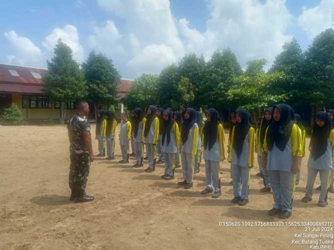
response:
<path fill-rule="evenodd" d="M 107 159 L 115 159 L 115 131 L 117 126 L 116 116 L 113 111 L 106 111 L 106 137 L 107 137 Z"/>

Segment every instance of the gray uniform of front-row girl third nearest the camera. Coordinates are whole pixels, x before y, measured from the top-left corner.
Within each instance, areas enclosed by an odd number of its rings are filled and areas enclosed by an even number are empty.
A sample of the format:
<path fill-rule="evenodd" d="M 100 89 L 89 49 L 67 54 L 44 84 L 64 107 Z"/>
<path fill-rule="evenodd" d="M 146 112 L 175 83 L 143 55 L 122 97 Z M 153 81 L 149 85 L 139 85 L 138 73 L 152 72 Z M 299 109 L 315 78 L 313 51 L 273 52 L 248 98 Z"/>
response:
<path fill-rule="evenodd" d="M 220 144 L 217 140 L 209 150 L 209 147 L 204 147 L 204 160 L 205 160 L 205 178 L 206 186 L 209 189 L 215 188 L 215 191 L 219 192 L 219 160 L 220 160 Z"/>

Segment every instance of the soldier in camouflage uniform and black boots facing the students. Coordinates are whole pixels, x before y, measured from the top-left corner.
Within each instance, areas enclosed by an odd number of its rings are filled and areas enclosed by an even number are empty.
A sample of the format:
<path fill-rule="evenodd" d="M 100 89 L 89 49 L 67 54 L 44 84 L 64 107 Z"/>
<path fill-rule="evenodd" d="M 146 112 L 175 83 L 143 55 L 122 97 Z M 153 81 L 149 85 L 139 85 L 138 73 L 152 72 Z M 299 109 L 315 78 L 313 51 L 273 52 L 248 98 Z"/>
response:
<path fill-rule="evenodd" d="M 90 162 L 94 161 L 91 126 L 86 116 L 89 105 L 80 101 L 76 105 L 77 112 L 68 120 L 68 133 L 70 139 L 70 200 L 87 202 L 94 200 L 94 196 L 86 195 L 85 189 L 89 175 Z"/>

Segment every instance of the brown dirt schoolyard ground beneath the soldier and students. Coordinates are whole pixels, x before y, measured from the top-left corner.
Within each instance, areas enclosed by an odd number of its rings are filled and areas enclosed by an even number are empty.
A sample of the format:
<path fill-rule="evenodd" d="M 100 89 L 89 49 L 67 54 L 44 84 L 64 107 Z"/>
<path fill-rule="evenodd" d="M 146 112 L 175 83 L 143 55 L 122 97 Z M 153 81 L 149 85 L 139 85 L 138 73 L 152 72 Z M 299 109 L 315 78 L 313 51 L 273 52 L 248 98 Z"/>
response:
<path fill-rule="evenodd" d="M 303 226 L 255 225 L 281 221 L 267 215 L 272 194 L 259 192 L 258 167 L 251 170 L 250 202 L 239 206 L 230 201 L 227 161 L 221 163 L 223 195 L 213 199 L 200 194 L 204 162 L 194 187 L 185 190 L 176 183 L 182 179 L 180 168 L 167 181 L 160 178 L 163 165 L 146 173 L 132 167 L 134 158 L 119 164 L 118 144 L 116 156 L 92 163 L 87 192 L 95 201 L 74 203 L 69 201 L 66 126 L 0 126 L 0 249 L 309 249 L 309 244 L 292 243 Z M 307 157 L 288 221 L 333 221 L 334 194 L 328 194 L 326 207 L 316 205 L 315 190 L 313 201 L 300 201 Z M 219 221 L 249 221 L 250 226 L 220 226 Z"/>

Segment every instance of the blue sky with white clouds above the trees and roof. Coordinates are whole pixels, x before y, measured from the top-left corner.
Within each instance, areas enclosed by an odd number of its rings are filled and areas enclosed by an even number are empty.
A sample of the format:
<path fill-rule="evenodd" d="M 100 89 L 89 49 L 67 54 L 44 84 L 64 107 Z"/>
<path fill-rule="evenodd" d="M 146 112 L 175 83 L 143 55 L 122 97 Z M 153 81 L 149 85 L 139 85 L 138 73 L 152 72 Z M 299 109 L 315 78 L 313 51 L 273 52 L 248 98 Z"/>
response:
<path fill-rule="evenodd" d="M 285 41 L 305 50 L 334 28 L 334 0 L 12 0 L 0 22 L 1 63 L 46 67 L 62 37 L 79 62 L 94 49 L 133 79 L 226 47 L 242 67 L 257 58 L 269 67 Z"/>

